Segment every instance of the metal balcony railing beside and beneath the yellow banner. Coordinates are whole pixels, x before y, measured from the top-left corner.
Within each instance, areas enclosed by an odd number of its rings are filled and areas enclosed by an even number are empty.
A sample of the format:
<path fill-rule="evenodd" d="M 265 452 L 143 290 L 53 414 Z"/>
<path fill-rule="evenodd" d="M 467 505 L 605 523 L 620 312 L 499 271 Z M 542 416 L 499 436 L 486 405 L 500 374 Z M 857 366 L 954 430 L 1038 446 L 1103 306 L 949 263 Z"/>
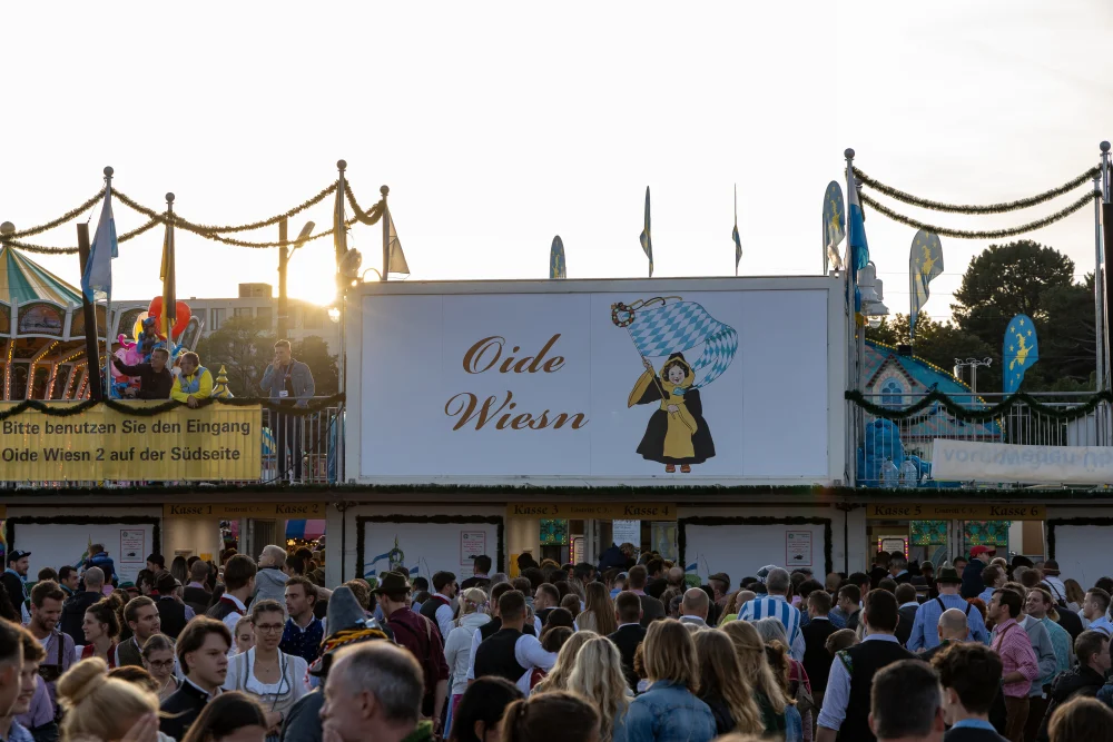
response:
<path fill-rule="evenodd" d="M 315 398 L 323 399 L 324 397 Z M 277 402 L 275 399 L 274 402 Z M 45 404 L 53 404 L 46 402 Z M 72 404 L 59 403 L 59 404 Z M 274 412 L 266 407 L 262 410 L 262 431 L 258 436 L 260 446 L 260 472 L 253 479 L 215 479 L 204 482 L 160 482 L 142 479 L 142 465 L 136 464 L 135 479 L 112 481 L 60 481 L 60 482 L 0 482 L 2 489 L 24 488 L 128 488 L 136 486 L 180 486 L 221 484 L 334 484 L 344 481 L 344 404 L 323 407 L 307 415 L 295 416 Z"/>

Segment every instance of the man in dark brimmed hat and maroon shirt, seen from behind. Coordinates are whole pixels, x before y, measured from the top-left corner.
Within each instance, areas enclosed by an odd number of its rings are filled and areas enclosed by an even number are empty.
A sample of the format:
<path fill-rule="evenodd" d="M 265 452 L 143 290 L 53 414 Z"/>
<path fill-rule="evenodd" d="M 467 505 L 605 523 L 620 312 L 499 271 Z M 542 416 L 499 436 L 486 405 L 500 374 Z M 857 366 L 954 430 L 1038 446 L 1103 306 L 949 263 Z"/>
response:
<path fill-rule="evenodd" d="M 374 592 L 386 625 L 394 632 L 394 641 L 410 650 L 425 672 L 422 713 L 440 724 L 449 687 L 449 665 L 441 635 L 429 619 L 410 610 L 410 582 L 401 574 L 387 572 Z"/>

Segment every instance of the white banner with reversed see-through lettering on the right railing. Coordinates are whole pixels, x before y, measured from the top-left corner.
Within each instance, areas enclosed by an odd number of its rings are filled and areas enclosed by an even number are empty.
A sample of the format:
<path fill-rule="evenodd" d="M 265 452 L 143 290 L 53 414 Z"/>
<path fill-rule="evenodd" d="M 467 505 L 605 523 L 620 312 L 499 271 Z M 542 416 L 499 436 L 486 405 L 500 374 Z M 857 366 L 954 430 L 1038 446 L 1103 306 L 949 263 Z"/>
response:
<path fill-rule="evenodd" d="M 1109 484 L 1113 447 L 1020 446 L 936 438 L 932 476 L 939 482 Z"/>

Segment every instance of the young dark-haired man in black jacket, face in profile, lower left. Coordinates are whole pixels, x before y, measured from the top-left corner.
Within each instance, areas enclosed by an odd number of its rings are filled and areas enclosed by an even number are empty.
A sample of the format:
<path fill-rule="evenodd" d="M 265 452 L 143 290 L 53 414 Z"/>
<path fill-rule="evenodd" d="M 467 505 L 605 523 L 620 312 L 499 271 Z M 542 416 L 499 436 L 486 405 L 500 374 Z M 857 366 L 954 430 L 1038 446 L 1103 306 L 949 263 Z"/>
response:
<path fill-rule="evenodd" d="M 185 681 L 162 702 L 159 730 L 164 734 L 185 739 L 205 704 L 220 693 L 228 674 L 229 649 L 232 632 L 215 619 L 198 616 L 181 632 L 176 652 Z"/>

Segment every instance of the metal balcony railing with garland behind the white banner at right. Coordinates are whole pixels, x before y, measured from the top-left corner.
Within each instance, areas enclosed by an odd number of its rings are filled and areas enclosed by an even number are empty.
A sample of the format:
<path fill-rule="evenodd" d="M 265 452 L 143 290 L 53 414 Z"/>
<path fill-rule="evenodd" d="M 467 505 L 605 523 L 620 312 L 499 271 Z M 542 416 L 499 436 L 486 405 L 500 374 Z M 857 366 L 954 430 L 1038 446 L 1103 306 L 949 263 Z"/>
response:
<path fill-rule="evenodd" d="M 926 395 L 894 396 L 884 394 L 863 395 L 871 405 L 905 409 L 915 405 Z M 1067 410 L 1085 405 L 1092 393 L 1035 393 L 1032 396 L 1045 407 Z M 1001 404 L 1006 395 L 965 395 L 953 400 L 968 409 L 987 409 Z M 932 478 L 933 442 L 935 439 L 968 441 L 977 443 L 1006 443 L 1038 446 L 1109 446 L 1111 439 L 1111 412 L 1107 405 L 1099 404 L 1095 409 L 1075 417 L 1063 419 L 1024 402 L 1015 403 L 1007 412 L 979 421 L 964 421 L 952 415 L 943 405 L 935 403 L 923 412 L 909 417 L 889 419 L 875 416 L 848 402 L 848 414 L 857 422 L 856 451 L 858 456 L 858 486 L 892 486 L 883 468 L 892 457 L 899 467 L 912 461 L 917 467 L 913 479 L 910 467 L 906 467 L 904 478 L 899 474 L 900 486 L 936 486 Z M 892 469 L 889 469 L 892 475 Z M 963 483 L 938 483 L 938 486 L 958 486 Z M 981 486 L 985 486 L 982 483 Z M 1024 486 L 1003 484 L 997 486 Z"/>

